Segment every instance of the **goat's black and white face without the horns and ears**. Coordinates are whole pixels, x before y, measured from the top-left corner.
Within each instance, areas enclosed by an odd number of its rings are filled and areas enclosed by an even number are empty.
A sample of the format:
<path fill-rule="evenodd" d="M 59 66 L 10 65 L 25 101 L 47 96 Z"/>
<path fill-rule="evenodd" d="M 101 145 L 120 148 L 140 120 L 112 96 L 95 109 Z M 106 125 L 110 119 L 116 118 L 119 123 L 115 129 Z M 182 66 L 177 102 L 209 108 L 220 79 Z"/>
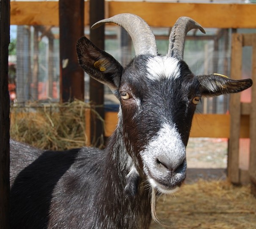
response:
<path fill-rule="evenodd" d="M 130 156 L 150 183 L 169 192 L 186 177 L 186 145 L 198 81 L 186 63 L 172 57 L 141 55 L 122 75 L 122 127 Z"/>

